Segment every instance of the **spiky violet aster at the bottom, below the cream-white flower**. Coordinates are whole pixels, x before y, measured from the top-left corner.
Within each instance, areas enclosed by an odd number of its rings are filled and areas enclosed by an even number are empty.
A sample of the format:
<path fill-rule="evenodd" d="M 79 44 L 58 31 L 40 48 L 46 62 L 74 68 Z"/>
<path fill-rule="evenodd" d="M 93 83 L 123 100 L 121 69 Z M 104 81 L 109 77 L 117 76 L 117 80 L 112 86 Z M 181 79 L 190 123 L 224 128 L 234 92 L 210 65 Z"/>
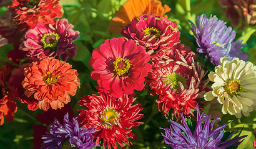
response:
<path fill-rule="evenodd" d="M 164 143 L 170 145 L 174 149 L 179 148 L 207 148 L 207 149 L 222 149 L 232 145 L 239 145 L 240 139 L 247 137 L 246 135 L 239 137 L 240 133 L 234 138 L 230 139 L 235 132 L 231 133 L 225 140 L 222 141 L 224 136 L 224 128 L 229 123 L 214 127 L 214 123 L 220 118 L 212 120 L 210 122 L 210 116 L 205 115 L 204 112 L 200 114 L 199 106 L 197 105 L 197 124 L 195 125 L 194 132 L 191 132 L 189 126 L 185 121 L 185 117 L 182 114 L 182 122 L 184 126 L 169 120 L 170 129 L 164 129 L 165 133 L 162 133 L 164 137 Z M 202 125 L 203 124 L 203 125 Z M 230 140 L 229 140 L 230 139 Z"/>

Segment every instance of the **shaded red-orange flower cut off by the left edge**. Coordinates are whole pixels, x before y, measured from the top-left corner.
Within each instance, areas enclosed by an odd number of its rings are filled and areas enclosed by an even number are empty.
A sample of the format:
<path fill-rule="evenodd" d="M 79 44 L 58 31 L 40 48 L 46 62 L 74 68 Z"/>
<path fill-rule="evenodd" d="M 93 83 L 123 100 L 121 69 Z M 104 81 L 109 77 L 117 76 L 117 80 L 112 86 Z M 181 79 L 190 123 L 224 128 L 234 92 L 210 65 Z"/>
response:
<path fill-rule="evenodd" d="M 0 68 L 0 125 L 4 124 L 4 116 L 11 122 L 13 113 L 17 111 L 16 102 L 9 93 L 10 86 L 6 83 L 11 75 L 11 67 L 1 66 Z"/>

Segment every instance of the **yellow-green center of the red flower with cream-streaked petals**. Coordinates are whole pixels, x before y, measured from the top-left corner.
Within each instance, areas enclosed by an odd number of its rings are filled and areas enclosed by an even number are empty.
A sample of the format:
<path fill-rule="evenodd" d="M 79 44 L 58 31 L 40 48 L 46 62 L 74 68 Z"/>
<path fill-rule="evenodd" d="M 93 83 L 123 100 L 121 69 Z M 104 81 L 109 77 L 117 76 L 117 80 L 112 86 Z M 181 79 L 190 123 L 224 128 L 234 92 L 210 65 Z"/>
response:
<path fill-rule="evenodd" d="M 171 73 L 166 76 L 168 79 L 165 81 L 168 81 L 167 84 L 172 83 L 172 86 L 174 89 L 177 89 L 178 92 L 180 92 L 179 88 L 179 82 L 183 84 L 184 88 L 187 87 L 187 81 L 186 79 L 177 73 Z"/>

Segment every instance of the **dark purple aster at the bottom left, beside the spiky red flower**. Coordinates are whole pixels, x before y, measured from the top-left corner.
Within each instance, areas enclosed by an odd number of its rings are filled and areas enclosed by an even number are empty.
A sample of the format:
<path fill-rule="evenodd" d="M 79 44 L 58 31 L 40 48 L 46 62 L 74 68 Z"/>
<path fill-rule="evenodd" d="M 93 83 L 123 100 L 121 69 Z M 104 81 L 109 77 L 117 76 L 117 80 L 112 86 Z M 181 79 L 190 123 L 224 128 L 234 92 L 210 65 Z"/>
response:
<path fill-rule="evenodd" d="M 72 119 L 72 122 L 69 122 L 69 114 L 67 113 L 64 116 L 63 125 L 57 119 L 50 125 L 49 132 L 42 136 L 44 143 L 41 148 L 91 149 L 96 145 L 96 143 L 92 142 L 92 133 L 94 133 L 94 128 L 79 127 L 75 118 Z"/>

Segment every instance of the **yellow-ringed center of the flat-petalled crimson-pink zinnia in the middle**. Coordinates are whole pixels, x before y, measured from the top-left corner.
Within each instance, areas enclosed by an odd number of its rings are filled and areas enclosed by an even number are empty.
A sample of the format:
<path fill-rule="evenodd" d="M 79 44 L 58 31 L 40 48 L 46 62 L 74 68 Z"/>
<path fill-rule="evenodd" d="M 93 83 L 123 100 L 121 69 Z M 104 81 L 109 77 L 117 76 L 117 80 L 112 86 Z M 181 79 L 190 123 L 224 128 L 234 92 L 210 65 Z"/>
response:
<path fill-rule="evenodd" d="M 116 58 L 116 60 L 113 62 L 114 73 L 116 73 L 118 76 L 124 76 L 128 73 L 130 65 L 132 64 L 127 58 Z"/>

